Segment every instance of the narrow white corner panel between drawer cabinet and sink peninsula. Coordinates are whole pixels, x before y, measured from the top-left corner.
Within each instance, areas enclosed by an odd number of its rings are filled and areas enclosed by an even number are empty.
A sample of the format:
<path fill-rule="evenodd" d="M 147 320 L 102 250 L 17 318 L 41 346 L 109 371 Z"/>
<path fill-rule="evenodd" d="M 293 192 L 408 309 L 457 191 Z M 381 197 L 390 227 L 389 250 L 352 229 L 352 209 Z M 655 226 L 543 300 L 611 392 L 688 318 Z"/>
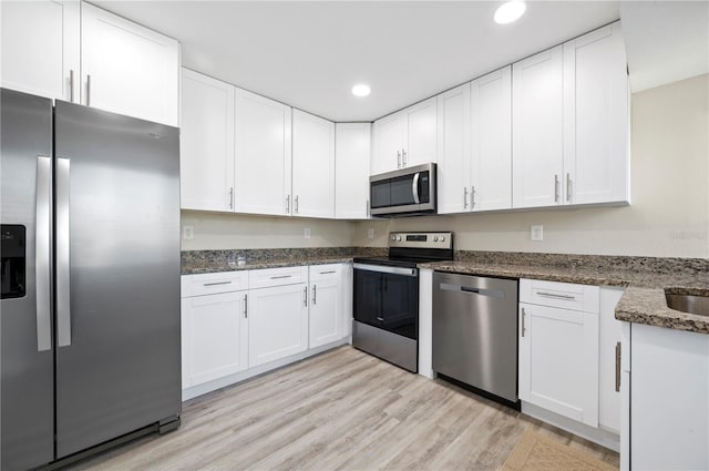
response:
<path fill-rule="evenodd" d="M 621 296 L 621 288 L 602 287 L 598 316 L 598 424 L 616 433 L 620 432 L 620 385 L 616 379 L 621 373 L 621 322 L 615 311 Z"/>

